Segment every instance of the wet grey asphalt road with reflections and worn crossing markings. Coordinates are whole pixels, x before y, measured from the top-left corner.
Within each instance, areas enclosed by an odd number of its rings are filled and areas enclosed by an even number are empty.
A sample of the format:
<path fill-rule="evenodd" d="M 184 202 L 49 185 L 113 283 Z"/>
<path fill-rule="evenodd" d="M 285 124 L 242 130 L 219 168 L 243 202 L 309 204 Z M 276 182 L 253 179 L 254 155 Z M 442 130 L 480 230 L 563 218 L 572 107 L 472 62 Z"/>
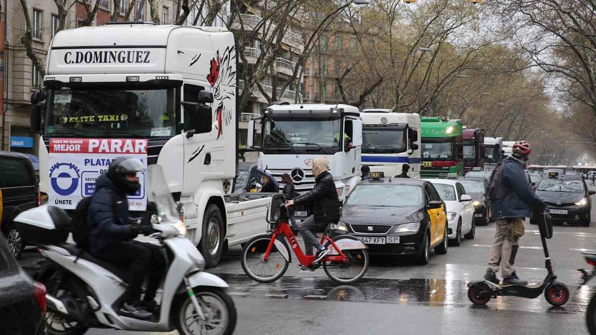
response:
<path fill-rule="evenodd" d="M 592 218 L 596 218 L 596 204 Z M 541 268 L 544 254 L 538 227 L 529 222 L 525 227 L 517 273 L 539 283 L 546 270 Z M 571 290 L 569 302 L 561 308 L 552 308 L 544 296 L 498 297 L 480 308 L 469 302 L 466 284 L 485 272 L 493 224 L 477 228 L 474 240 L 449 247 L 446 255 L 432 253 L 428 265 L 373 258 L 365 278 L 352 285 L 330 281 L 322 269 L 305 272 L 293 264 L 276 283 L 254 283 L 240 266 L 239 247 L 229 250 L 210 272 L 231 286 L 238 310 L 237 334 L 584 334 L 585 309 L 596 287 L 578 290 L 575 271 L 587 265 L 581 250 L 596 250 L 596 222 L 591 227 L 555 227 L 554 231 L 548 246 L 555 272 Z M 33 270 L 35 260 L 35 252 L 27 251 L 21 263 Z M 142 333 L 92 330 L 88 334 Z"/>

